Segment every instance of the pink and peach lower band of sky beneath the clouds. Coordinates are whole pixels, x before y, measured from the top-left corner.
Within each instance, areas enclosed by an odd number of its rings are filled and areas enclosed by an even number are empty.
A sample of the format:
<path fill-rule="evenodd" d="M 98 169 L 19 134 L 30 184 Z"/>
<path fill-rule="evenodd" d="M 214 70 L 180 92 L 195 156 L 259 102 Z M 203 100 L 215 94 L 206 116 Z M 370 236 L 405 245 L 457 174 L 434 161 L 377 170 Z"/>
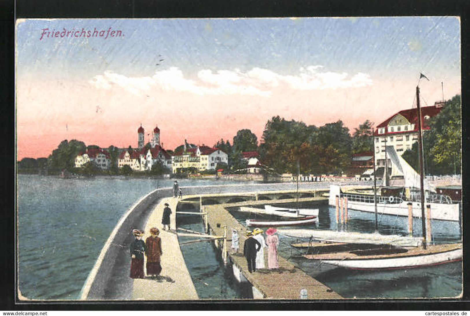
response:
<path fill-rule="evenodd" d="M 267 96 L 197 94 L 161 86 L 136 93 L 115 83 L 103 89 L 93 81 L 18 80 L 18 160 L 47 157 L 63 139 L 102 147 L 137 146 L 140 123 L 146 134 L 158 125 L 167 149 L 174 149 L 184 139 L 209 146 L 220 138 L 232 143 L 240 129 L 250 129 L 259 140 L 267 120 L 276 115 L 316 126 L 340 119 L 352 132 L 366 119 L 380 123 L 401 109 L 411 108 L 415 93 L 415 82 L 406 78 L 371 78 L 371 84 L 362 87 L 319 90 L 285 84 L 275 89 L 260 87 L 270 92 Z M 422 81 L 421 90 L 428 105 L 442 98 L 440 83 L 435 80 L 432 84 Z M 459 91 L 458 81 L 446 82 L 446 99 Z"/>

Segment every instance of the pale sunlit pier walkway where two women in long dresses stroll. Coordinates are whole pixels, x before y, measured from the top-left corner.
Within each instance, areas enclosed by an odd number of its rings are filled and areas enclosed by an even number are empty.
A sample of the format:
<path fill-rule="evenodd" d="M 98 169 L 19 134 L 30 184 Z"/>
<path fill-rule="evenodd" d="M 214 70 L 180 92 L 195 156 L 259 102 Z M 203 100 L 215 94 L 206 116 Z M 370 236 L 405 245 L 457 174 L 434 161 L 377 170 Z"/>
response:
<path fill-rule="evenodd" d="M 170 216 L 171 231 L 162 230 L 162 214 L 164 203 L 168 203 L 172 209 Z M 150 236 L 150 228 L 157 227 L 160 230 L 159 237 L 162 239 L 162 272 L 158 278 L 135 279 L 133 282 L 132 299 L 147 301 L 169 301 L 169 300 L 197 300 L 198 296 L 193 285 L 188 268 L 184 262 L 183 254 L 176 235 L 176 206 L 178 199 L 165 198 L 153 209 L 149 220 L 145 225 L 145 241 Z M 147 258 L 145 258 L 147 263 Z M 144 268 L 145 270 L 145 268 Z"/>

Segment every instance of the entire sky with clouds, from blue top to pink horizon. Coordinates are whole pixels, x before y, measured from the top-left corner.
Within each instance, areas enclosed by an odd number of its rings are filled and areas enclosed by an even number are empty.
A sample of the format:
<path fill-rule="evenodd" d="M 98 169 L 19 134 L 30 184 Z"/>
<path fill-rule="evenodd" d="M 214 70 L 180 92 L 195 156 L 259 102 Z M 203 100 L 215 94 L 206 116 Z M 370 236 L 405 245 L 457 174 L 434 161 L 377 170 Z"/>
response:
<path fill-rule="evenodd" d="M 141 124 L 166 149 L 260 140 L 273 116 L 353 132 L 415 106 L 420 73 L 422 106 L 461 93 L 460 46 L 451 16 L 18 20 L 17 159 L 136 147 Z"/>

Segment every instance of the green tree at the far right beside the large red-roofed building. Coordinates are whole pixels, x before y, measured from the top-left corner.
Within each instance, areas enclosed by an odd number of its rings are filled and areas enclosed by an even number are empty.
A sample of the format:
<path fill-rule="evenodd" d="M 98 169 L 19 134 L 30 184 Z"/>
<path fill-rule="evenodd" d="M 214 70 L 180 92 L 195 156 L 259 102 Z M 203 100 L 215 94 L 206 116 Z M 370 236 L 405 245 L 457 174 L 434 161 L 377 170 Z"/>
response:
<path fill-rule="evenodd" d="M 461 96 L 446 101 L 438 115 L 426 122 L 429 130 L 423 132 L 423 161 L 426 174 L 460 173 L 462 166 Z M 418 143 L 402 155 L 411 167 L 419 170 Z"/>

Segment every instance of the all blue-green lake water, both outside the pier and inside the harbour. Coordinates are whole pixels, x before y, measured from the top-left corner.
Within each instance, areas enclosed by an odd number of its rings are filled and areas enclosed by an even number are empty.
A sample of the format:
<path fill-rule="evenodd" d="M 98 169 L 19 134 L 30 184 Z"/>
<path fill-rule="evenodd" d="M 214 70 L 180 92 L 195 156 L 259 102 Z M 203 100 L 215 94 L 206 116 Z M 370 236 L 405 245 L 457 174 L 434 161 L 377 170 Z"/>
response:
<path fill-rule="evenodd" d="M 181 186 L 233 182 L 179 180 Z M 96 177 L 61 179 L 19 175 L 18 285 L 21 294 L 36 300 L 76 300 L 101 249 L 119 219 L 143 195 L 172 180 Z M 123 194 L 124 193 L 124 194 Z M 307 207 L 306 204 L 304 204 Z M 357 214 L 352 214 L 357 213 Z M 352 212 L 348 230 L 371 232 L 373 214 Z M 245 214 L 234 212 L 244 223 Z M 379 218 L 381 233 L 406 233 L 406 219 Z M 320 208 L 319 229 L 336 229 L 334 208 Z M 178 216 L 178 226 L 203 231 L 199 216 Z M 419 221 L 415 221 L 416 234 Z M 316 226 L 312 226 L 315 228 Z M 458 225 L 433 222 L 436 242 L 460 239 Z M 180 237 L 180 241 L 187 240 Z M 295 239 L 281 238 L 280 254 L 344 297 L 455 297 L 462 290 L 461 263 L 426 269 L 351 273 L 335 269 L 318 274 L 314 262 L 296 256 Z M 182 245 L 188 270 L 201 299 L 249 298 L 250 287 L 237 284 L 224 269 L 209 242 Z M 298 253 L 297 253 L 298 254 Z"/>

